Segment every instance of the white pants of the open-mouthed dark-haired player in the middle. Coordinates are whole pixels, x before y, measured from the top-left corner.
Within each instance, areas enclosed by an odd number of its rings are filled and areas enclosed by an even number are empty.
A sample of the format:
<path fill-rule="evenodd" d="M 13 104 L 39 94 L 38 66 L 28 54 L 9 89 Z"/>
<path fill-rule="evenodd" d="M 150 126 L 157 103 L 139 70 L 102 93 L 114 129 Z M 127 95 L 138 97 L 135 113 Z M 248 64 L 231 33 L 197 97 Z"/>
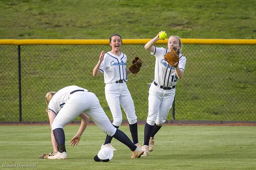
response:
<path fill-rule="evenodd" d="M 113 116 L 113 125 L 120 126 L 122 124 L 120 105 L 126 113 L 129 124 L 133 125 L 137 122 L 133 99 L 125 82 L 106 83 L 105 96 Z"/>

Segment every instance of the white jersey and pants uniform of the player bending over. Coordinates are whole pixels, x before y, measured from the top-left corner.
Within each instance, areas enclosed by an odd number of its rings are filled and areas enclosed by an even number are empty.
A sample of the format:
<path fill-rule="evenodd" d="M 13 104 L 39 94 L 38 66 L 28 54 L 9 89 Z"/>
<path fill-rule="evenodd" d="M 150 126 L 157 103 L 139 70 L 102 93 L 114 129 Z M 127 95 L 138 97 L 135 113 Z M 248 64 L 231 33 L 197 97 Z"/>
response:
<path fill-rule="evenodd" d="M 113 136 L 116 128 L 111 124 L 94 93 L 78 86 L 68 86 L 60 89 L 50 100 L 48 109 L 56 117 L 52 123 L 52 130 L 63 128 L 82 112 L 107 135 Z"/>

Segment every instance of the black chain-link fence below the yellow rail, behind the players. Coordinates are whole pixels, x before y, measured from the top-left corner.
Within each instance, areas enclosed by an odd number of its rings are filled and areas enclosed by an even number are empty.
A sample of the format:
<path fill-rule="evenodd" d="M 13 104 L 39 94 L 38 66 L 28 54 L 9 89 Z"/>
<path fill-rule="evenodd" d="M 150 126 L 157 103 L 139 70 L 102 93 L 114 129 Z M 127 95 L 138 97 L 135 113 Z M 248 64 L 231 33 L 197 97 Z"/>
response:
<path fill-rule="evenodd" d="M 70 85 L 94 92 L 112 120 L 103 74 L 92 76 L 102 50 L 110 51 L 110 46 L 21 45 L 20 110 L 18 46 L 0 45 L 0 121 L 48 121 L 45 94 Z M 128 75 L 127 86 L 138 120 L 146 120 L 147 83 L 154 78 L 155 57 L 144 45 L 123 45 L 121 51 L 130 62 L 134 56 L 143 60 L 137 76 Z M 256 45 L 183 45 L 187 63 L 176 86 L 175 120 L 255 121 L 255 52 Z M 167 120 L 172 120 L 172 109 Z"/>

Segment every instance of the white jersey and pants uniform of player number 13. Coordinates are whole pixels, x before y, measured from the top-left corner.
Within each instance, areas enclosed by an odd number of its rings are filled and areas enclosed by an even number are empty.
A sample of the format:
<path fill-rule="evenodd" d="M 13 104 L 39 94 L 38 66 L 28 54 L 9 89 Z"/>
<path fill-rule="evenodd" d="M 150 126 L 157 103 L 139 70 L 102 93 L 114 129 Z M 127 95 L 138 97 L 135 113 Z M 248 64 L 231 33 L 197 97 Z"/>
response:
<path fill-rule="evenodd" d="M 162 126 L 166 121 L 166 117 L 171 109 L 172 102 L 175 97 L 175 90 L 178 77 L 175 68 L 171 67 L 164 59 L 164 55 L 169 50 L 158 48 L 154 46 L 154 52 L 151 53 L 156 57 L 155 62 L 155 82 L 149 88 L 148 97 L 148 117 L 147 123 L 149 125 Z M 180 56 L 179 68 L 185 71 L 186 57 Z M 171 87 L 170 89 L 163 89 L 161 86 Z"/>

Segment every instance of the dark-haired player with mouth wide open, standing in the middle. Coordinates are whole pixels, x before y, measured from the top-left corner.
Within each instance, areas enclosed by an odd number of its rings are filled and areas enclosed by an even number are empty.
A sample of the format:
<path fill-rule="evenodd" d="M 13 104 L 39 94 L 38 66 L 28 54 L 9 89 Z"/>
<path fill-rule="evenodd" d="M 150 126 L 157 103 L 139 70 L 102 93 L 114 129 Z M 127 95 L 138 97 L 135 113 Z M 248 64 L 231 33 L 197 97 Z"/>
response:
<path fill-rule="evenodd" d="M 97 65 L 94 67 L 93 76 L 97 76 L 100 72 L 104 73 L 105 96 L 113 116 L 113 126 L 118 128 L 122 123 L 122 106 L 126 113 L 133 143 L 140 146 L 138 143 L 138 125 L 137 116 L 135 115 L 133 99 L 127 88 L 127 74 L 130 73 L 126 69 L 127 56 L 120 51 L 122 38 L 119 34 L 113 34 L 109 41 L 112 50 L 105 54 L 102 51 Z M 102 147 L 111 147 L 112 137 L 106 137 Z M 140 146 L 141 147 L 141 146 Z"/>

